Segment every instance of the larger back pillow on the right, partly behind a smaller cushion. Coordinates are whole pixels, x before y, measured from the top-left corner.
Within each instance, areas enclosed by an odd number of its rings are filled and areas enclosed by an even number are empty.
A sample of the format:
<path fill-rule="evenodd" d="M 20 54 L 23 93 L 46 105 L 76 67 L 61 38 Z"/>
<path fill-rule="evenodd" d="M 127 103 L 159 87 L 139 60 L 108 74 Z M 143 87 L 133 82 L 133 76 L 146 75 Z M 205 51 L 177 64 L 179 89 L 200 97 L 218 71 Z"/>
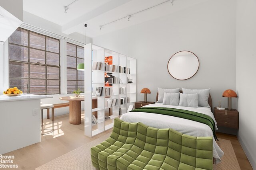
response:
<path fill-rule="evenodd" d="M 198 94 L 198 106 L 202 106 L 202 107 L 210 107 L 210 105 L 208 104 L 208 98 L 209 98 L 209 94 L 210 94 L 210 88 L 208 89 L 201 89 L 201 90 L 191 90 L 191 89 L 186 89 L 186 88 L 182 88 L 182 92 L 186 93 L 186 94 Z"/>

